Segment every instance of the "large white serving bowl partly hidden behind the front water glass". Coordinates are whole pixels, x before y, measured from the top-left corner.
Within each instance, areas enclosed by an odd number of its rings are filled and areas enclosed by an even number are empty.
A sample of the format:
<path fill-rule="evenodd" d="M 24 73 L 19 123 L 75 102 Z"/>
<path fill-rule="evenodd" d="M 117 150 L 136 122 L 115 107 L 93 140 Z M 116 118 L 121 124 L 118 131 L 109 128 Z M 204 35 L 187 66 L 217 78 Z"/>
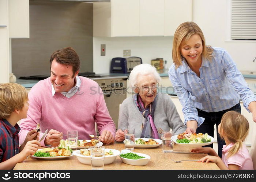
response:
<path fill-rule="evenodd" d="M 105 149 L 105 152 L 109 152 L 110 150 L 112 150 L 113 155 L 105 155 L 104 165 L 111 164 L 112 162 L 114 162 L 117 155 L 120 154 L 120 151 L 115 150 L 115 149 Z M 80 154 L 80 150 L 74 151 L 73 153 L 77 157 L 79 162 L 81 162 L 83 164 L 91 165 L 91 156 L 90 155 L 89 156 L 88 155 L 82 155 L 82 154 Z"/>

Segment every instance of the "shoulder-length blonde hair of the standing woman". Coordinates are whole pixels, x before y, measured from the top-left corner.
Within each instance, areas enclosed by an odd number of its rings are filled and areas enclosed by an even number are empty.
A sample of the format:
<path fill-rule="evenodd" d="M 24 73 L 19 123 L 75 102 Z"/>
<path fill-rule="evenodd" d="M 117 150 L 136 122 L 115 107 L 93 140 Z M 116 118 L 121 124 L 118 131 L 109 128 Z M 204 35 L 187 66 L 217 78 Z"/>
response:
<path fill-rule="evenodd" d="M 173 37 L 172 57 L 173 57 L 173 63 L 176 68 L 182 64 L 180 47 L 183 46 L 188 41 L 188 39 L 194 34 L 199 35 L 202 39 L 203 58 L 211 61 L 213 50 L 211 46 L 205 45 L 205 39 L 204 39 L 204 34 L 202 30 L 194 22 L 187 21 L 178 26 Z"/>

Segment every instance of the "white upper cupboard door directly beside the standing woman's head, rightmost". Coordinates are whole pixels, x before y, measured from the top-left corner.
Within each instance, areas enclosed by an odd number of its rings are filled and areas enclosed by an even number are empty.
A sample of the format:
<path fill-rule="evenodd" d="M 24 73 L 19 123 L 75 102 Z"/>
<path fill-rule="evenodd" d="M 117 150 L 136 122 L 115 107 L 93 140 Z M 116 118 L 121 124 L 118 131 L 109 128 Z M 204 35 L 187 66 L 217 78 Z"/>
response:
<path fill-rule="evenodd" d="M 164 36 L 173 36 L 185 21 L 192 21 L 192 0 L 165 0 Z"/>

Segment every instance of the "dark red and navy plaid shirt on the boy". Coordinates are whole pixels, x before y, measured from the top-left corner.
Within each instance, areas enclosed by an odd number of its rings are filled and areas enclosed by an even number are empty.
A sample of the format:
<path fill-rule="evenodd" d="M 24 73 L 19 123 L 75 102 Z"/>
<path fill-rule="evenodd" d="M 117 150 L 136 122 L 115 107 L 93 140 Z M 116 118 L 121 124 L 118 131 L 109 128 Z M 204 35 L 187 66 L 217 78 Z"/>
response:
<path fill-rule="evenodd" d="M 4 162 L 19 153 L 18 124 L 12 126 L 6 119 L 0 120 L 0 162 Z"/>

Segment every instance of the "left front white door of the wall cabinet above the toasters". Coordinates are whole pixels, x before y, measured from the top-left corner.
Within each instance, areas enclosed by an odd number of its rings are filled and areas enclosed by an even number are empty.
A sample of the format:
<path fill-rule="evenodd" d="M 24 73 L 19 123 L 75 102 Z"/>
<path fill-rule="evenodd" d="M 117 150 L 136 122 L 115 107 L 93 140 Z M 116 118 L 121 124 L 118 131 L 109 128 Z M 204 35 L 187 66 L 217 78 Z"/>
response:
<path fill-rule="evenodd" d="M 112 37 L 139 36 L 139 0 L 112 0 Z"/>

